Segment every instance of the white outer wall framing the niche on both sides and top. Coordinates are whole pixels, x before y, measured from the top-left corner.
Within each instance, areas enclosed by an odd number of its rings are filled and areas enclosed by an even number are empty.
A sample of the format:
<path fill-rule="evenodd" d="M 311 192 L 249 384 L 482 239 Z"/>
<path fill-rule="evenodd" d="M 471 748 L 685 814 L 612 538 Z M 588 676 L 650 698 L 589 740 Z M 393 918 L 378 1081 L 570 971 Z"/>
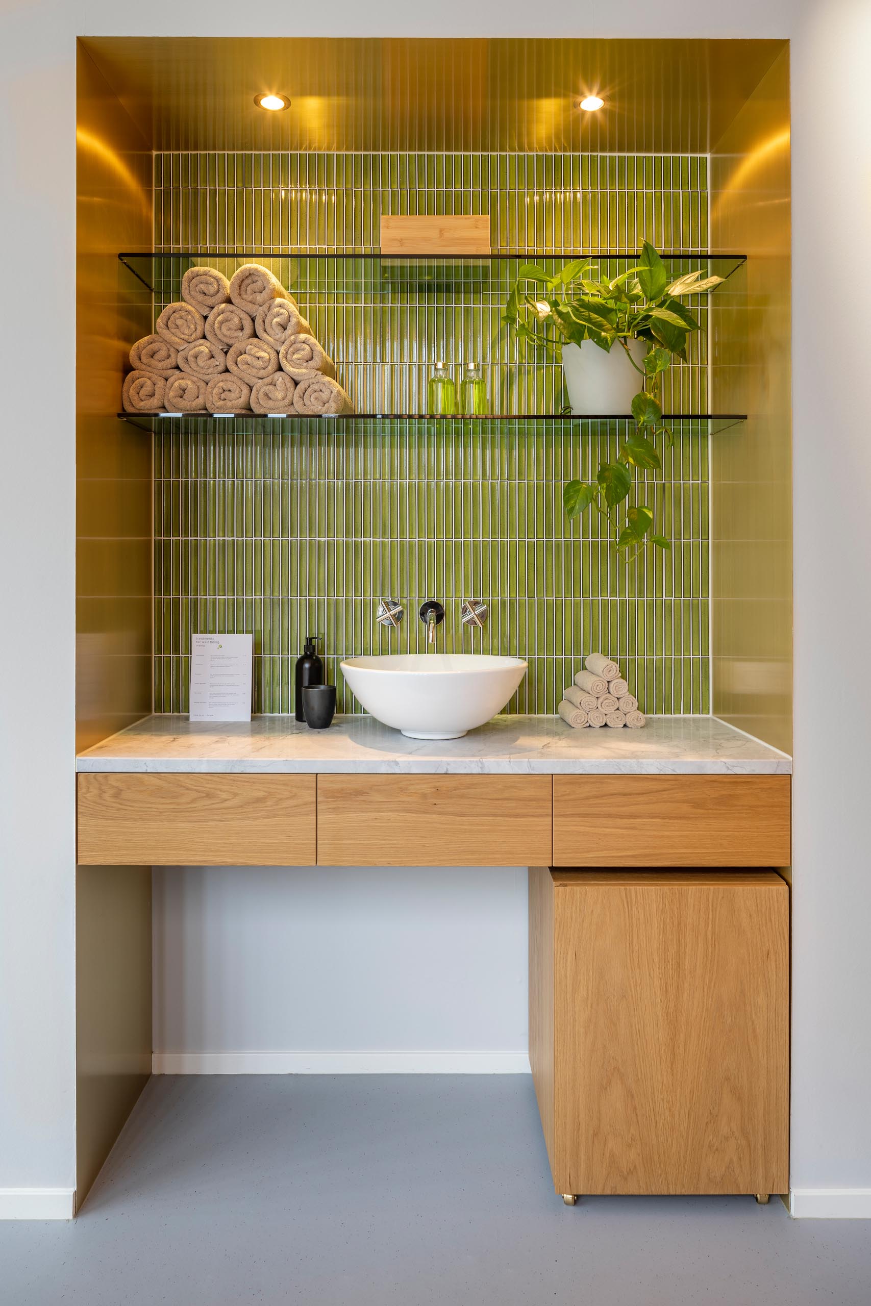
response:
<path fill-rule="evenodd" d="M 290 10 L 213 0 L 209 34 L 289 34 Z M 176 0 L 7 0 L 0 39 L 4 294 L 37 338 L 40 294 L 73 338 L 77 34 L 196 35 Z M 334 0 L 294 12 L 319 35 L 791 37 L 795 364 L 795 855 L 793 1182 L 802 1202 L 871 1215 L 871 248 L 867 0 Z M 29 98 L 37 88 L 38 102 Z M 820 104 L 820 91 L 825 103 Z M 846 290 L 850 294 L 845 294 Z M 867 299 L 867 296 L 863 296 Z M 4 320 L 4 328 L 8 319 Z M 5 398 L 0 477 L 0 1190 L 73 1182 L 73 368 L 34 351 Z M 37 421 L 33 414 L 37 410 Z M 51 415 L 48 415 L 51 413 Z M 34 451 L 38 456 L 34 457 Z M 10 615 L 13 614 L 13 619 Z M 832 654 L 859 692 L 829 713 Z M 847 1190 L 838 1198 L 834 1190 Z M 859 1190 L 866 1190 L 864 1195 Z M 819 1194 L 823 1194 L 820 1198 Z M 808 1194 L 807 1199 L 802 1194 Z M 864 1203 L 864 1205 L 863 1205 Z M 808 1207 L 806 1207 L 807 1209 Z"/>

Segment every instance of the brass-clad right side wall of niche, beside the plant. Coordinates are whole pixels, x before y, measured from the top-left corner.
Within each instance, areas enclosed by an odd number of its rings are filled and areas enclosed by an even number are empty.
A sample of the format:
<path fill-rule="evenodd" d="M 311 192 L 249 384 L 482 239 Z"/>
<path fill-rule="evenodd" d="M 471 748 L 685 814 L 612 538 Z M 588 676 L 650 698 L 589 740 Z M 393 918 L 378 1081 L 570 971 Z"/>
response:
<path fill-rule="evenodd" d="M 712 447 L 717 716 L 793 750 L 789 50 L 710 155 L 712 242 L 747 252 L 712 299 L 714 405 L 748 414 Z"/>

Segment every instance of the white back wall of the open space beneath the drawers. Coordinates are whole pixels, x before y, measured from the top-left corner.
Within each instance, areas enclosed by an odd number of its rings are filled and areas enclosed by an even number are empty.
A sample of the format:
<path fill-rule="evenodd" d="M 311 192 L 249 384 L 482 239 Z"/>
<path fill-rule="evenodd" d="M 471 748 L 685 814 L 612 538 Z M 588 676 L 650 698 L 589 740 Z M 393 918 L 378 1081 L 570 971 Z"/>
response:
<path fill-rule="evenodd" d="M 155 1068 L 529 1071 L 525 870 L 167 867 L 153 901 Z"/>

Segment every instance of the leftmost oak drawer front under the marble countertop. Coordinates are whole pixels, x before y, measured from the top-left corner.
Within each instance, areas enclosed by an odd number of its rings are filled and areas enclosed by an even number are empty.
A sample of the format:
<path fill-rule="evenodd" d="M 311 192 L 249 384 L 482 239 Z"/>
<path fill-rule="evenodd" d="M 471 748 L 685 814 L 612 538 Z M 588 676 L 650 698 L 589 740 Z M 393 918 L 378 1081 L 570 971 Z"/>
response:
<path fill-rule="evenodd" d="M 78 777 L 82 866 L 313 866 L 315 776 Z"/>

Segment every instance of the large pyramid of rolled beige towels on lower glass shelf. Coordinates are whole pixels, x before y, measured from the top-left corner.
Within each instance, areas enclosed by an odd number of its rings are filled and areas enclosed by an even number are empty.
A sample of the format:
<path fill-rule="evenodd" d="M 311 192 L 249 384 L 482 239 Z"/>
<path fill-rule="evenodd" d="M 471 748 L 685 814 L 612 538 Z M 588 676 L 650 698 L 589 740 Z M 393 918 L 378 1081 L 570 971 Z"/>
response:
<path fill-rule="evenodd" d="M 131 349 L 125 413 L 341 417 L 354 406 L 299 304 L 268 268 L 188 268 L 182 299 Z"/>

